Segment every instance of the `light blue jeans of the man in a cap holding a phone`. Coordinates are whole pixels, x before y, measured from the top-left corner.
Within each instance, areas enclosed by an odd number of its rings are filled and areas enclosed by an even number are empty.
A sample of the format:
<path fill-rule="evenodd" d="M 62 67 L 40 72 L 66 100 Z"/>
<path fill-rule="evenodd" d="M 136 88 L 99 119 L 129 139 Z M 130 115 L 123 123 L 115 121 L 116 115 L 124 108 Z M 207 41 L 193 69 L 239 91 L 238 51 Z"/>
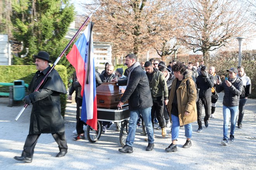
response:
<path fill-rule="evenodd" d="M 223 138 L 228 139 L 228 124 L 230 116 L 230 135 L 234 135 L 235 122 L 237 121 L 238 106 L 228 107 L 223 105 Z"/>

